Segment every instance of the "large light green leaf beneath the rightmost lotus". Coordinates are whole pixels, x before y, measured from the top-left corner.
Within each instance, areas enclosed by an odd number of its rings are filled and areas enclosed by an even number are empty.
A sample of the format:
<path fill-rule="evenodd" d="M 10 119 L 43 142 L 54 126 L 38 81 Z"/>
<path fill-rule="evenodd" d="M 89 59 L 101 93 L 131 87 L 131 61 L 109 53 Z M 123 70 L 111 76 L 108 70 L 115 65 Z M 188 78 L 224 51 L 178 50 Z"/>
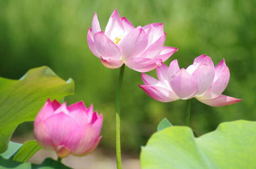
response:
<path fill-rule="evenodd" d="M 194 137 L 185 126 L 156 132 L 142 148 L 142 169 L 256 168 L 256 122 L 222 123 L 214 131 Z"/>

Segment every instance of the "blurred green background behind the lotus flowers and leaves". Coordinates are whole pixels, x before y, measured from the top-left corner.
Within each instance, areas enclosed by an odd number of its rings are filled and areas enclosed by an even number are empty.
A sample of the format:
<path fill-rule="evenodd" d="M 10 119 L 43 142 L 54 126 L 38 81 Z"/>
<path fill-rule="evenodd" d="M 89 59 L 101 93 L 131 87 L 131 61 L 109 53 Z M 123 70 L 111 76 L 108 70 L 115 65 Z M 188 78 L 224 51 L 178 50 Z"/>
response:
<path fill-rule="evenodd" d="M 187 67 L 195 57 L 207 54 L 215 64 L 225 58 L 230 81 L 224 94 L 243 102 L 210 107 L 192 101 L 191 127 L 199 134 L 215 130 L 226 121 L 256 120 L 256 1 L 169 1 L 169 0 L 1 0 L 0 76 L 18 79 L 30 68 L 47 65 L 63 79 L 75 80 L 71 104 L 83 100 L 104 114 L 100 146 L 114 153 L 115 90 L 119 69 L 104 67 L 87 45 L 87 31 L 94 12 L 102 30 L 115 8 L 134 26 L 163 22 L 165 45 L 179 51 L 165 64 L 178 59 Z M 148 73 L 155 76 L 155 70 Z M 122 87 L 122 150 L 138 154 L 140 146 L 167 117 L 174 125 L 184 124 L 186 102 L 161 103 L 137 85 L 140 74 L 125 69 Z M 30 132 L 31 123 L 18 127 L 15 135 Z"/>

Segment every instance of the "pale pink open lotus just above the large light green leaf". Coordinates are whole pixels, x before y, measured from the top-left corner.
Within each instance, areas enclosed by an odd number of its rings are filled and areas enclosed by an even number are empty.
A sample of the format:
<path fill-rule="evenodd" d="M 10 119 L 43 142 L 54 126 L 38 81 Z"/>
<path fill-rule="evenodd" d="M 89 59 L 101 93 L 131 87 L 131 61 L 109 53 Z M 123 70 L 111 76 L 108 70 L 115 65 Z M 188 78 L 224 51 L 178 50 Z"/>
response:
<path fill-rule="evenodd" d="M 141 74 L 145 85 L 139 85 L 148 95 L 160 102 L 196 98 L 209 106 L 226 106 L 242 101 L 221 94 L 229 81 L 229 69 L 223 59 L 214 67 L 211 58 L 201 55 L 186 69 L 174 60 L 169 67 L 157 67 L 158 80 Z"/>

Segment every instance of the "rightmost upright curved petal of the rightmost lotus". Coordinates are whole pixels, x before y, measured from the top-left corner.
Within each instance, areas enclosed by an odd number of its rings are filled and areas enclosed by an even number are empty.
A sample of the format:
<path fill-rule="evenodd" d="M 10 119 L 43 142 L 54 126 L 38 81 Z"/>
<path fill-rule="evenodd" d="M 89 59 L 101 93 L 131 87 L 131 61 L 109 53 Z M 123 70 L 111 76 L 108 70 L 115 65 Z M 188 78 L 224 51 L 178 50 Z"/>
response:
<path fill-rule="evenodd" d="M 211 99 L 219 96 L 227 87 L 229 77 L 229 69 L 223 60 L 215 67 L 214 83 L 212 83 L 209 89 L 206 90 L 206 92 L 203 94 L 203 97 Z"/>

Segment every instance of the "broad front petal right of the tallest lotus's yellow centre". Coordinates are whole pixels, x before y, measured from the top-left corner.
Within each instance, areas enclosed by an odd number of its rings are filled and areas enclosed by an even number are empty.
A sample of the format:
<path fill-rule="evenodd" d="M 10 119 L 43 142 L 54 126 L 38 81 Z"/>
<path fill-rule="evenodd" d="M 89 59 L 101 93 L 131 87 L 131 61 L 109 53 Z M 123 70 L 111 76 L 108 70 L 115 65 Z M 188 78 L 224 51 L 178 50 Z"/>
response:
<path fill-rule="evenodd" d="M 134 57 L 145 50 L 148 37 L 142 28 L 135 28 L 127 34 L 119 43 L 121 50 L 121 58 L 127 60 Z"/>

